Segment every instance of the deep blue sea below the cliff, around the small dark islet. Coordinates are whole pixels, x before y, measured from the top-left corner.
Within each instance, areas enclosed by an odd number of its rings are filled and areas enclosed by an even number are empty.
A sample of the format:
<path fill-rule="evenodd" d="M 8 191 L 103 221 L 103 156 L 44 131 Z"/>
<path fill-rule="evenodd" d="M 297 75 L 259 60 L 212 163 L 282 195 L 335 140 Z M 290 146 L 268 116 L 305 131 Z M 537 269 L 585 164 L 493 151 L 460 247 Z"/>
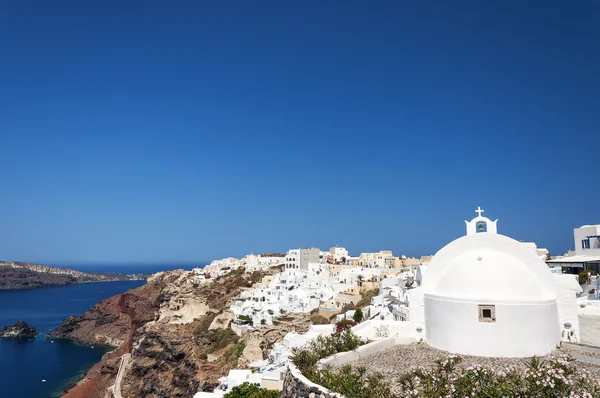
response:
<path fill-rule="evenodd" d="M 192 264 L 47 264 L 87 272 L 144 273 L 190 270 Z M 0 290 L 0 329 L 25 321 L 40 333 L 29 340 L 0 339 L 0 397 L 53 398 L 97 363 L 107 347 L 83 346 L 45 337 L 71 315 L 98 301 L 141 286 L 145 281 L 82 283 L 31 290 Z"/>

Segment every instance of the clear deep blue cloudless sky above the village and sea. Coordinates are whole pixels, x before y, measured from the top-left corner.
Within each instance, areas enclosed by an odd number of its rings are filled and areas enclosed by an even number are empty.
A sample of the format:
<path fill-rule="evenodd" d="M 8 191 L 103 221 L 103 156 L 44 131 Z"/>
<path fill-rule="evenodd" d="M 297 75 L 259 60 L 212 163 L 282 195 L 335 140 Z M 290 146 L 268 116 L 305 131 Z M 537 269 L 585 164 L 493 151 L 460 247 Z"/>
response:
<path fill-rule="evenodd" d="M 0 258 L 433 254 L 600 223 L 600 6 L 0 2 Z M 489 3 L 489 4 L 488 4 Z"/>

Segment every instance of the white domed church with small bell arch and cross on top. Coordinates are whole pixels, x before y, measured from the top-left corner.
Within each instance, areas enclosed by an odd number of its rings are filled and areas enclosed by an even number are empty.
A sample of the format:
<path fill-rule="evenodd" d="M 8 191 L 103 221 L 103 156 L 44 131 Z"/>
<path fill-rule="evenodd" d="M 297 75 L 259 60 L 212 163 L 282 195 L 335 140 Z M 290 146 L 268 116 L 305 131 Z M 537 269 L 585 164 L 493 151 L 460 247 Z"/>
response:
<path fill-rule="evenodd" d="M 476 212 L 466 236 L 435 254 L 411 298 L 417 330 L 433 347 L 489 357 L 545 355 L 561 339 L 576 341 L 576 289 Z"/>

